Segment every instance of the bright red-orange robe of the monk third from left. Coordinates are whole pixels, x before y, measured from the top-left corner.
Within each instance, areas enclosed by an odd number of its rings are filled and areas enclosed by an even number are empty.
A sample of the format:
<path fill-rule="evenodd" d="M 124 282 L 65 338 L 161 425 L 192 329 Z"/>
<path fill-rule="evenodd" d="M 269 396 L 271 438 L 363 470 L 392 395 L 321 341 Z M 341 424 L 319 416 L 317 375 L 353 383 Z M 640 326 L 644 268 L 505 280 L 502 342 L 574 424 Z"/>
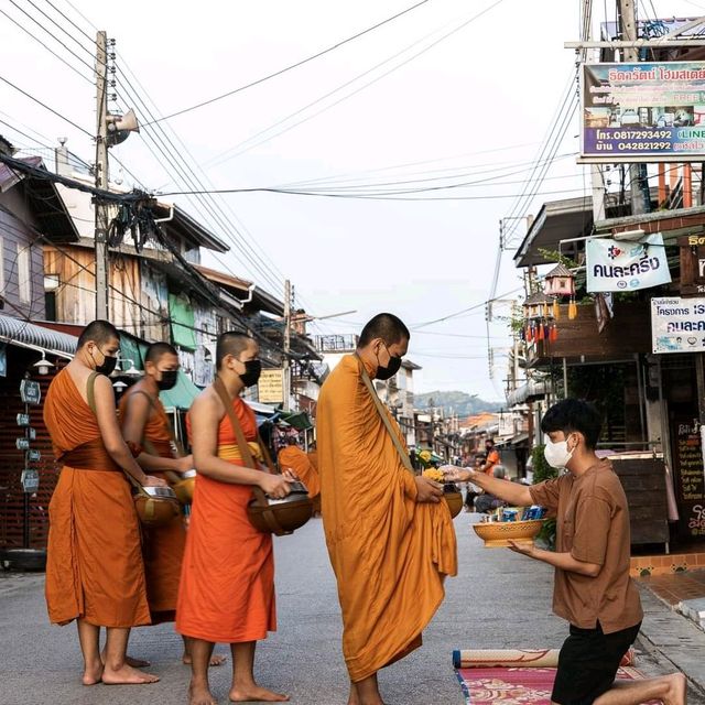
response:
<path fill-rule="evenodd" d="M 256 441 L 254 412 L 239 398 L 234 409 L 245 437 Z M 227 414 L 218 427 L 218 457 L 243 465 Z M 249 522 L 251 499 L 247 485 L 196 478 L 176 607 L 176 631 L 185 637 L 237 643 L 276 629 L 272 536 Z"/>

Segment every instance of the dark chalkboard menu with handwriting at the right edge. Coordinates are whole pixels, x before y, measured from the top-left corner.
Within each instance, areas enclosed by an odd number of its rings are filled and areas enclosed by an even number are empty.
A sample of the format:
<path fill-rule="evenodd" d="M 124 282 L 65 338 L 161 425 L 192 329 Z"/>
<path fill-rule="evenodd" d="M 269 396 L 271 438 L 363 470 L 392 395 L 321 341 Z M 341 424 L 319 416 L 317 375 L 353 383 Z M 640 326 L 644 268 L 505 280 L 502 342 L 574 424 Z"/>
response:
<path fill-rule="evenodd" d="M 674 420 L 673 438 L 681 530 L 705 536 L 705 475 L 698 424 L 692 417 Z"/>

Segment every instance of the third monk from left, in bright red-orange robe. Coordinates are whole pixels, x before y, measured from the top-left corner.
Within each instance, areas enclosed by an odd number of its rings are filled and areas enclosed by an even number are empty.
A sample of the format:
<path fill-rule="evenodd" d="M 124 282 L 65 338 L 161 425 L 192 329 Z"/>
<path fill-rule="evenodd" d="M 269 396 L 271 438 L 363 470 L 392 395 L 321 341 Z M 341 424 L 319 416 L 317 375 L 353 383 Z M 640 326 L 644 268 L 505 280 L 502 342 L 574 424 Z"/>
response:
<path fill-rule="evenodd" d="M 254 412 L 240 392 L 256 384 L 259 347 L 240 333 L 225 333 L 216 346 L 217 375 L 225 384 L 252 454 Z M 192 638 L 191 705 L 216 705 L 208 684 L 208 660 L 216 642 L 230 644 L 234 702 L 288 701 L 254 681 L 254 648 L 276 628 L 272 536 L 250 523 L 252 486 L 273 498 L 285 497 L 285 477 L 245 466 L 226 409 L 212 384 L 187 417 L 198 471 L 182 567 L 176 631 Z"/>

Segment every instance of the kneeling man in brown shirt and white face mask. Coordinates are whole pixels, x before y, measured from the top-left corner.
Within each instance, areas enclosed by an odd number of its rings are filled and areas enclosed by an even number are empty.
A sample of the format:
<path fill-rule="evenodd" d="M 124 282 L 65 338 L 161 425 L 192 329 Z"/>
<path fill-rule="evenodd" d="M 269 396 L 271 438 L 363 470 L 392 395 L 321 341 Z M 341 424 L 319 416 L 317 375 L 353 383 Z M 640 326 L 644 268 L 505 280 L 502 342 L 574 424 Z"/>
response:
<path fill-rule="evenodd" d="M 567 473 L 531 487 L 474 470 L 449 468 L 448 479 L 477 482 L 512 506 L 541 505 L 556 513 L 556 550 L 512 542 L 512 550 L 555 568 L 553 610 L 570 622 L 551 701 L 560 705 L 685 703 L 685 676 L 673 673 L 616 681 L 621 658 L 639 633 L 643 612 L 629 576 L 627 498 L 608 460 L 595 447 L 601 420 L 594 406 L 557 402 L 541 421 L 545 457 Z"/>

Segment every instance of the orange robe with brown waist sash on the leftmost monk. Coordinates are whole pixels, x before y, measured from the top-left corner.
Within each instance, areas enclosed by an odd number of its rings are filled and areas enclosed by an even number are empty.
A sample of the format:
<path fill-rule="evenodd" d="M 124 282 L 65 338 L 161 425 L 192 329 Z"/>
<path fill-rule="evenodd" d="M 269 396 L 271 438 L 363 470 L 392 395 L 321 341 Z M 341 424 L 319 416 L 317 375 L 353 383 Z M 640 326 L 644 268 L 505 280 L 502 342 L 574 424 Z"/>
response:
<path fill-rule="evenodd" d="M 130 485 L 102 445 L 69 372 L 52 381 L 44 423 L 65 460 L 48 506 L 46 604 L 52 622 L 150 623 L 140 529 Z M 70 463 L 74 463 L 74 467 Z"/>

